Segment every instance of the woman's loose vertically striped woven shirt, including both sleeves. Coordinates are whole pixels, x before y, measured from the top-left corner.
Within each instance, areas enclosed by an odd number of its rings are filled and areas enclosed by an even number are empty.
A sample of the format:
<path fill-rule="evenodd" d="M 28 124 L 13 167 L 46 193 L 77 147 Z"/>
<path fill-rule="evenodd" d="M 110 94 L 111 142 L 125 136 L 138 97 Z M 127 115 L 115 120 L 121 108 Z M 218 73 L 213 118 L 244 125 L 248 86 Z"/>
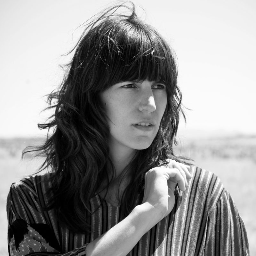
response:
<path fill-rule="evenodd" d="M 185 192 L 175 190 L 172 212 L 158 222 L 128 254 L 139 255 L 249 255 L 243 220 L 220 179 L 196 166 Z M 120 221 L 122 206 L 106 201 L 88 218 L 90 235 L 61 227 L 54 211 L 43 212 L 49 174 L 13 183 L 7 198 L 9 255 L 85 255 L 87 243 Z M 100 197 L 91 199 L 91 210 Z"/>

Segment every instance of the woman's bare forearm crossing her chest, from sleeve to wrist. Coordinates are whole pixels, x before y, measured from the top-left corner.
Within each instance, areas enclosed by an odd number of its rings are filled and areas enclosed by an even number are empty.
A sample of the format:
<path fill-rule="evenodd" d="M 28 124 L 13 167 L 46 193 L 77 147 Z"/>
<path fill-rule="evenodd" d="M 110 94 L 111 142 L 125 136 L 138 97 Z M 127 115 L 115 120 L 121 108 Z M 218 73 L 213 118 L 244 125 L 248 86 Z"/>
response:
<path fill-rule="evenodd" d="M 161 220 L 149 204 L 136 206 L 121 222 L 86 247 L 87 256 L 125 256 L 140 238 Z"/>

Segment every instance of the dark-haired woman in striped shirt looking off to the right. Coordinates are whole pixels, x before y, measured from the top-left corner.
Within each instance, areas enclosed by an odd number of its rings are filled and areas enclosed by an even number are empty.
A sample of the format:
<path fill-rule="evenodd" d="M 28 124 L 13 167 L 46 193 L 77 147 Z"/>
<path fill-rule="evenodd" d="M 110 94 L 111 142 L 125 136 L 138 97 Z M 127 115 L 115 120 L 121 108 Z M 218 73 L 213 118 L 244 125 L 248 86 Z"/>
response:
<path fill-rule="evenodd" d="M 30 150 L 49 172 L 11 186 L 10 255 L 249 255 L 218 177 L 173 152 L 175 60 L 130 4 L 87 24 L 49 95 L 49 136 Z"/>

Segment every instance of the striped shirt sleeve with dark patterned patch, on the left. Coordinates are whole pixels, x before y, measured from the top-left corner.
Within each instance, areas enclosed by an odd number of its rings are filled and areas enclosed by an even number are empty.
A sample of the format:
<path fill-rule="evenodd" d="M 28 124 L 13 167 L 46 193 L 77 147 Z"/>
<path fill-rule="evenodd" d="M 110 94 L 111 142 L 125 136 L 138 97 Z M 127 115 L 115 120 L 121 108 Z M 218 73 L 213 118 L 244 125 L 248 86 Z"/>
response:
<path fill-rule="evenodd" d="M 26 184 L 12 184 L 7 196 L 7 219 L 9 256 L 85 255 L 87 244 L 61 253 L 58 239 L 44 219 L 36 192 Z"/>

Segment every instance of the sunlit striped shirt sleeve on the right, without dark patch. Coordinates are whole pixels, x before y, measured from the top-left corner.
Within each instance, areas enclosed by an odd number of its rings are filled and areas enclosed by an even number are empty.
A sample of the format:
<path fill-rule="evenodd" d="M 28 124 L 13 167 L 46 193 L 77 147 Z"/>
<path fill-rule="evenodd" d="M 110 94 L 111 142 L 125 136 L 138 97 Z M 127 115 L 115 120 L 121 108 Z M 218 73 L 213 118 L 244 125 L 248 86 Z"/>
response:
<path fill-rule="evenodd" d="M 227 190 L 208 214 L 204 255 L 249 255 L 244 222 Z"/>

